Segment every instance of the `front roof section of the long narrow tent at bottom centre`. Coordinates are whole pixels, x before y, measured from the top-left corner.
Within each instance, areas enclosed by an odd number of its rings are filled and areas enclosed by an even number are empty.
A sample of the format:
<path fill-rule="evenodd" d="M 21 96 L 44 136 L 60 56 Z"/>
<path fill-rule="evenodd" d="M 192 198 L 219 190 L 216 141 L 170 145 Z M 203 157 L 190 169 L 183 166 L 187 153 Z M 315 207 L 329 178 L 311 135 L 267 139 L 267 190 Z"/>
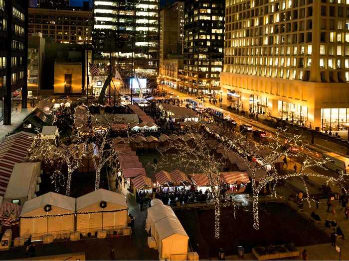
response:
<path fill-rule="evenodd" d="M 177 217 L 163 218 L 155 223 L 155 227 L 157 229 L 160 240 L 166 239 L 174 234 L 181 235 L 189 239 Z"/>

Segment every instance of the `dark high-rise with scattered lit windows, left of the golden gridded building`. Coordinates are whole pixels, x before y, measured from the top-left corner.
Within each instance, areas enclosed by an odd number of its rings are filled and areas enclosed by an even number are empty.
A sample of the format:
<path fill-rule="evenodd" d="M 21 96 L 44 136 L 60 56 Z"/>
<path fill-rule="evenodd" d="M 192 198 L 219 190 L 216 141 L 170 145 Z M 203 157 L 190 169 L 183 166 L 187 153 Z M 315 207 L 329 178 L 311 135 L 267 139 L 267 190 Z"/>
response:
<path fill-rule="evenodd" d="M 224 6 L 224 0 L 185 1 L 181 89 L 195 93 L 219 90 L 224 57 Z"/>

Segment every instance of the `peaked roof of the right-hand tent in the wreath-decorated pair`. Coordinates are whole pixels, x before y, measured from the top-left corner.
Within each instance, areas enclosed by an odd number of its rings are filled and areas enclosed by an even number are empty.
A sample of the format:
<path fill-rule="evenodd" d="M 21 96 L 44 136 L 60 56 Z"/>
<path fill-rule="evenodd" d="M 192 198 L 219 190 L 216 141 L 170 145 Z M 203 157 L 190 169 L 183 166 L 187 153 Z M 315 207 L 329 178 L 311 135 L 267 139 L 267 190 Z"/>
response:
<path fill-rule="evenodd" d="M 76 210 L 85 208 L 100 201 L 106 201 L 127 207 L 125 196 L 106 189 L 98 189 L 76 199 Z"/>

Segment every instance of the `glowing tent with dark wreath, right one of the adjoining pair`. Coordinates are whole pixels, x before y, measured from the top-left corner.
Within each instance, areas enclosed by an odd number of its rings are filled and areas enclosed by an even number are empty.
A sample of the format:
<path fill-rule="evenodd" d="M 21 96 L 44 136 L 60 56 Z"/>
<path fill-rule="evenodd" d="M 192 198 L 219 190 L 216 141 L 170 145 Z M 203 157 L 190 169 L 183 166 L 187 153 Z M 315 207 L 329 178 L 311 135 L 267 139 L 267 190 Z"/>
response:
<path fill-rule="evenodd" d="M 127 227 L 127 209 L 124 195 L 106 189 L 95 190 L 76 199 L 76 230 L 87 234 Z"/>

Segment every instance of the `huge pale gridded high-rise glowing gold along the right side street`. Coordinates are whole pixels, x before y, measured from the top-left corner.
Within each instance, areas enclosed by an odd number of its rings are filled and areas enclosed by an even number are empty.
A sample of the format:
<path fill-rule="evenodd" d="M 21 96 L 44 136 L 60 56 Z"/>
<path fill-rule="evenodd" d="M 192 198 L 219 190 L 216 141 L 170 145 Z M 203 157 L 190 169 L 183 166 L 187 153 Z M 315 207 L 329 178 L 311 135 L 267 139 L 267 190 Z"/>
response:
<path fill-rule="evenodd" d="M 349 2 L 226 1 L 223 101 L 321 130 L 349 123 Z"/>

